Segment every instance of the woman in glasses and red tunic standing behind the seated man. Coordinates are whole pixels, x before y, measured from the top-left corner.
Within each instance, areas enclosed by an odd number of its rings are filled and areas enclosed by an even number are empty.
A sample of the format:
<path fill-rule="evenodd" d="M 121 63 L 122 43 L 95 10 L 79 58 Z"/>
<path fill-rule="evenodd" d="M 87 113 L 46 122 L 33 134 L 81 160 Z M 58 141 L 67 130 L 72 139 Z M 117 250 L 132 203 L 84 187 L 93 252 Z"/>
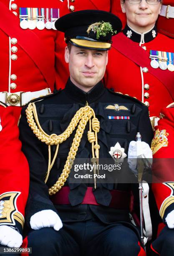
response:
<path fill-rule="evenodd" d="M 127 24 L 113 37 L 105 75 L 106 86 L 144 102 L 155 124 L 160 109 L 174 101 L 174 41 L 155 26 L 161 4 L 161 0 L 121 0 Z"/>

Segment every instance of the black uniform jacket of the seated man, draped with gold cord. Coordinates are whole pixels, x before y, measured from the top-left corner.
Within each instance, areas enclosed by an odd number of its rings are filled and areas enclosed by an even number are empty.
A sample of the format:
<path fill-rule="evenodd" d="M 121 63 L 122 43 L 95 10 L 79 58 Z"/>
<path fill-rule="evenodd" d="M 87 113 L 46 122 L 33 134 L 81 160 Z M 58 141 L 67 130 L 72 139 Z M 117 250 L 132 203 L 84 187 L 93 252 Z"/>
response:
<path fill-rule="evenodd" d="M 125 148 L 128 153 L 129 143 L 135 140 L 136 133 L 140 132 L 142 141 L 151 143 L 153 131 L 148 115 L 148 108 L 139 100 L 112 92 L 103 86 L 102 82 L 96 84 L 88 93 L 78 89 L 70 79 L 64 90 L 53 95 L 37 99 L 35 101 L 38 119 L 42 129 L 48 133 L 57 135 L 63 133 L 68 127 L 71 119 L 79 108 L 86 105 L 86 102 L 93 108 L 96 117 L 100 121 L 100 131 L 98 133 L 98 144 L 100 145 L 100 158 L 111 158 L 108 151 L 117 142 Z M 128 110 L 106 110 L 108 105 L 124 105 Z M 30 194 L 26 207 L 26 220 L 29 225 L 30 217 L 40 210 L 51 209 L 58 212 L 63 221 L 83 221 L 89 216 L 96 215 L 103 223 L 113 223 L 116 221 L 129 222 L 129 213 L 126 210 L 116 210 L 107 207 L 111 202 L 109 190 L 130 190 L 129 184 L 98 184 L 93 189 L 96 201 L 101 204 L 85 205 L 83 197 L 85 195 L 86 184 L 69 184 L 69 200 L 71 205 L 53 205 L 48 195 L 48 188 L 53 186 L 60 176 L 75 131 L 71 136 L 60 144 L 57 159 L 50 171 L 47 184 L 44 183 L 45 174 L 48 167 L 48 146 L 38 140 L 27 123 L 25 114 L 26 107 L 22 110 L 19 128 L 22 149 L 28 159 L 30 166 Z M 109 119 L 108 116 L 129 116 L 129 120 Z M 91 143 L 87 139 L 88 125 L 81 139 L 76 158 L 91 158 Z M 52 156 L 55 146 L 52 146 Z M 92 187 L 92 186 L 91 186 Z M 138 191 L 137 191 L 138 192 Z"/>

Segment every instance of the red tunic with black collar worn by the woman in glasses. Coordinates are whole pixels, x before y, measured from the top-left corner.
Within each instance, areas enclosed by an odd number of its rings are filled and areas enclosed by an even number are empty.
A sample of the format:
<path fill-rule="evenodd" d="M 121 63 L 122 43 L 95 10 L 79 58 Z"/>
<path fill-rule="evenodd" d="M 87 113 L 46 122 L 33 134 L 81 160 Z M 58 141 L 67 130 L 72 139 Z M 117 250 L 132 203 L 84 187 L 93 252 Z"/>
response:
<path fill-rule="evenodd" d="M 135 46 L 143 46 L 148 53 L 150 50 L 174 52 L 173 39 L 157 33 L 155 27 L 148 33 L 139 34 L 126 26 L 123 33 Z M 117 35 L 113 37 L 113 45 L 116 40 Z M 134 54 L 136 56 L 136 52 Z M 150 61 L 151 59 L 149 59 L 149 64 Z M 162 72 L 164 76 L 166 73 L 169 74 L 168 70 L 159 69 L 159 72 Z M 173 72 L 170 72 L 170 74 L 174 75 Z M 140 67 L 134 61 L 121 54 L 114 46 L 109 51 L 105 84 L 113 87 L 116 92 L 129 94 L 144 102 L 149 106 L 150 116 L 158 117 L 161 107 L 173 102 L 171 94 L 163 82 L 150 74 L 147 69 Z"/>

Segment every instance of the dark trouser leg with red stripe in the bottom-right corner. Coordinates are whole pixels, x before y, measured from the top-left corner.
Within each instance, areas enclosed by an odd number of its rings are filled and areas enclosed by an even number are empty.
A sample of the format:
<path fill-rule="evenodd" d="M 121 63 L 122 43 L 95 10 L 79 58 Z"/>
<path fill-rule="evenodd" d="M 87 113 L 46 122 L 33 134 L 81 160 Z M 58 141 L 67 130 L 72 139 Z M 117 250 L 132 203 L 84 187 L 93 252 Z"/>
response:
<path fill-rule="evenodd" d="M 167 225 L 151 244 L 152 255 L 174 256 L 174 229 Z"/>

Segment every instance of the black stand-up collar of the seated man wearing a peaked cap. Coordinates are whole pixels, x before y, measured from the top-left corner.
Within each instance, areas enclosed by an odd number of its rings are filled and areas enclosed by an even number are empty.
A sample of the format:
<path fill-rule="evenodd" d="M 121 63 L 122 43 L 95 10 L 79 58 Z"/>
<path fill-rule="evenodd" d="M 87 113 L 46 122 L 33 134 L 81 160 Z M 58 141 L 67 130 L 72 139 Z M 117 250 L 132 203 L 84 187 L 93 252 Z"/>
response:
<path fill-rule="evenodd" d="M 68 97 L 72 98 L 76 102 L 83 103 L 84 105 L 86 102 L 89 104 L 95 102 L 101 95 L 103 95 L 105 91 L 103 83 L 100 81 L 96 84 L 89 92 L 84 92 L 83 90 L 79 89 L 76 85 L 74 85 L 70 78 L 68 79 L 65 87 L 65 92 Z"/>

